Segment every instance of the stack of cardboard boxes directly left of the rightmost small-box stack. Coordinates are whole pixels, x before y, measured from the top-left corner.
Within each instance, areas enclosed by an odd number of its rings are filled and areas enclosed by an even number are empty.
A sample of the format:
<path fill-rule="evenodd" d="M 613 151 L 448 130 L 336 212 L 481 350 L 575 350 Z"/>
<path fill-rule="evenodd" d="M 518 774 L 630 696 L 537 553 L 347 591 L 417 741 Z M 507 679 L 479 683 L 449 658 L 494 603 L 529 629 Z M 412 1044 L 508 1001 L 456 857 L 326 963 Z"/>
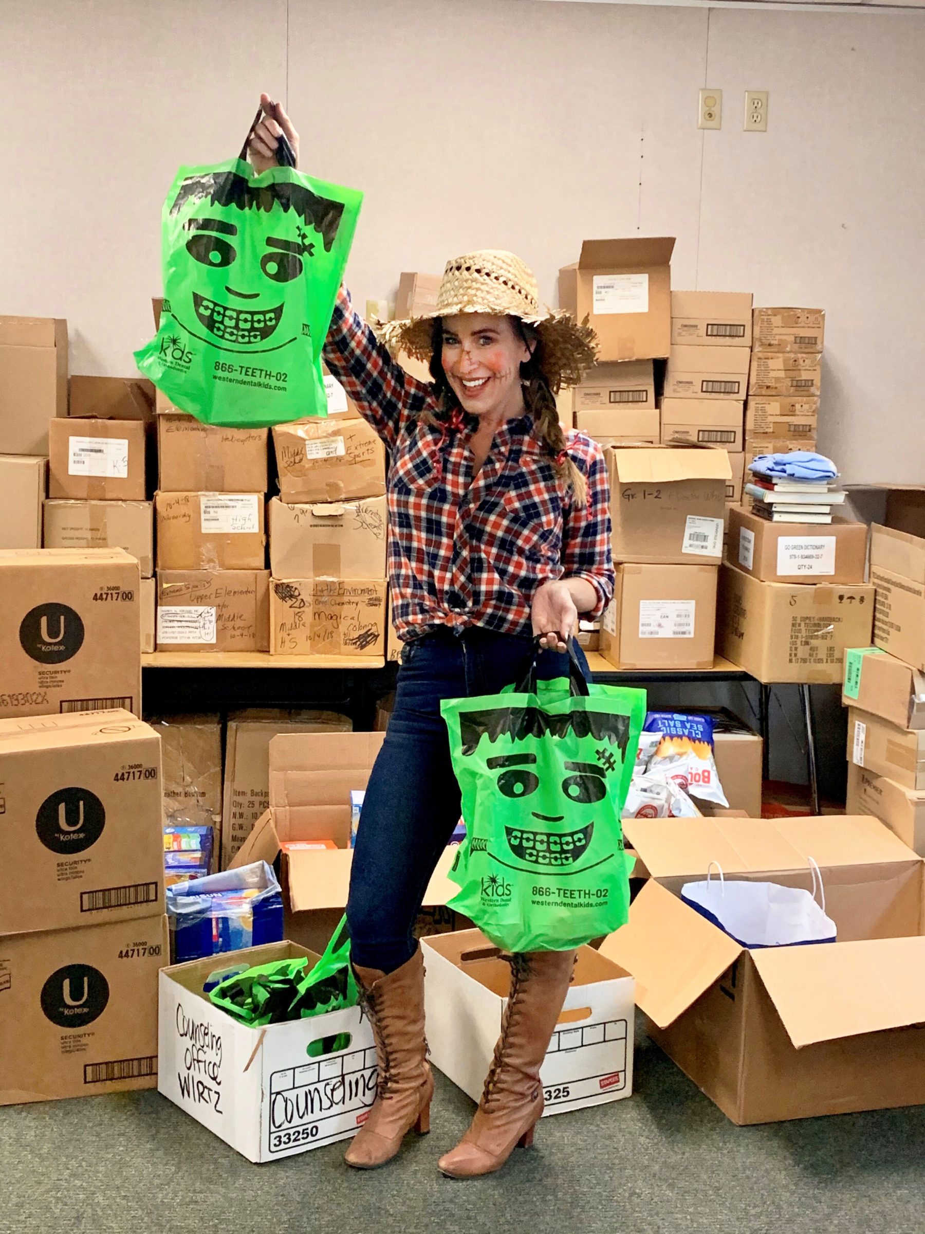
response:
<path fill-rule="evenodd" d="M 742 500 L 744 399 L 751 357 L 751 292 L 672 291 L 671 355 L 661 441 L 729 453 L 729 508 Z"/>

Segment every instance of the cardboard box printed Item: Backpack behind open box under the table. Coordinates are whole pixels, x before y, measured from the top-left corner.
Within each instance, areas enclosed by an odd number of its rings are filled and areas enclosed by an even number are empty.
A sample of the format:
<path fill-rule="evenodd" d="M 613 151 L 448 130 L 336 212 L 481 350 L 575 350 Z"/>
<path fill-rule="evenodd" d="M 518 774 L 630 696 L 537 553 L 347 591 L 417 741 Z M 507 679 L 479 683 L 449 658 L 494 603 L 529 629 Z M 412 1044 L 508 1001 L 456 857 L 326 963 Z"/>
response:
<path fill-rule="evenodd" d="M 332 711 L 232 712 L 224 749 L 222 869 L 227 870 L 254 823 L 270 808 L 270 742 L 280 734 L 349 733 L 353 723 Z M 371 766 L 371 763 L 370 763 Z M 365 784 L 365 781 L 364 781 Z M 350 787 L 361 787 L 350 785 Z M 347 801 L 349 802 L 349 791 Z M 347 834 L 350 811 L 347 807 Z M 327 838 L 327 837 L 326 837 Z M 348 840 L 349 843 L 349 840 Z"/>

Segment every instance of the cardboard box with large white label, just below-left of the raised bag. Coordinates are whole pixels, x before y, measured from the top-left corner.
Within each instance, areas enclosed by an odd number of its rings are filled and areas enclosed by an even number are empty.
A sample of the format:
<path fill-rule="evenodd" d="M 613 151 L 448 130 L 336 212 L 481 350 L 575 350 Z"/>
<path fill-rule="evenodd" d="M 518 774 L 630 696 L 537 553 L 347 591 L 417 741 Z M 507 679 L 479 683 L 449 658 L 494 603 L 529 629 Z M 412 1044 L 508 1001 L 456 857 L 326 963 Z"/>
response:
<path fill-rule="evenodd" d="M 144 424 L 138 420 L 48 422 L 48 496 L 144 501 Z"/>

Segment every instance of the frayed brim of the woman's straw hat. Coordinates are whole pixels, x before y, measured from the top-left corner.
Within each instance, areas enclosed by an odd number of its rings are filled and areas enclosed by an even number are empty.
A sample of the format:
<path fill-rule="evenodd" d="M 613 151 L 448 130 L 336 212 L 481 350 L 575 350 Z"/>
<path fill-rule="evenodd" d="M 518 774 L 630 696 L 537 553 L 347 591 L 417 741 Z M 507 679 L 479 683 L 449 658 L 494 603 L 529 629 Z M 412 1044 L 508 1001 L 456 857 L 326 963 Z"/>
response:
<path fill-rule="evenodd" d="M 377 333 L 392 355 L 406 352 L 414 359 L 429 364 L 433 354 L 434 320 L 438 316 L 451 317 L 456 312 L 490 313 L 493 317 L 508 316 L 508 313 L 498 313 L 497 305 L 485 307 L 466 305 L 465 308 L 445 308 L 440 313 L 434 312 L 405 321 L 390 321 Z M 577 322 L 571 313 L 560 310 L 541 317 L 528 317 L 520 313 L 511 316 L 520 317 L 520 321 L 533 326 L 536 331 L 541 344 L 540 371 L 554 394 L 557 394 L 562 386 L 577 385 L 585 371 L 597 360 L 594 331 L 587 322 Z"/>

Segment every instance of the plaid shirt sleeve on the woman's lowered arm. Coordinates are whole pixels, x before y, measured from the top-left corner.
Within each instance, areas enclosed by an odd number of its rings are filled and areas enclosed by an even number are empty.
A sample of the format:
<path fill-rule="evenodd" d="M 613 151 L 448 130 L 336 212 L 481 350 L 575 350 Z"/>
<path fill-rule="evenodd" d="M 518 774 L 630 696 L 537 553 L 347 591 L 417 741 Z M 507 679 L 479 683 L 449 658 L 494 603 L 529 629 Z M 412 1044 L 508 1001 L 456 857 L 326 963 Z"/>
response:
<path fill-rule="evenodd" d="M 610 484 L 604 454 L 586 433 L 570 434 L 569 455 L 585 475 L 588 500 L 572 502 L 562 527 L 562 576 L 586 579 L 597 592 L 597 603 L 587 616 L 599 617 L 613 600 L 610 555 Z"/>

